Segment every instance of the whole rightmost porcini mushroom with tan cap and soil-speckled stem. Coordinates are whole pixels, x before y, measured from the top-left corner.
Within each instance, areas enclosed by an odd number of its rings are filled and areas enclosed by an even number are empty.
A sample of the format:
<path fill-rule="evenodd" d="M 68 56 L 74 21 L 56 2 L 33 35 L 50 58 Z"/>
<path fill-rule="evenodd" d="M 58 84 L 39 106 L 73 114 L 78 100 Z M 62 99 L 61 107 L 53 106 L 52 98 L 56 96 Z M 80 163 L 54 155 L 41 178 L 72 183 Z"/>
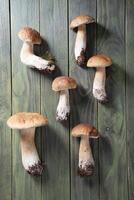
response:
<path fill-rule="evenodd" d="M 112 59 L 104 54 L 99 54 L 89 58 L 87 67 L 96 67 L 96 73 L 93 83 L 93 96 L 100 102 L 108 101 L 105 91 L 106 67 L 112 64 Z"/>

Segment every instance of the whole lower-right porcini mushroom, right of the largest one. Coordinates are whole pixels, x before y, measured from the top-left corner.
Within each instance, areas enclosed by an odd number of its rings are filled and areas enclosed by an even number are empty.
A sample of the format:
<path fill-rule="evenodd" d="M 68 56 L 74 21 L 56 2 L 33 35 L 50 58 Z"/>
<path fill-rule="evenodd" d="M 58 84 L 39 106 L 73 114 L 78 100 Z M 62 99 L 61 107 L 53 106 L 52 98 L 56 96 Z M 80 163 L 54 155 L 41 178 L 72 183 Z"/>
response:
<path fill-rule="evenodd" d="M 95 163 L 89 138 L 98 138 L 99 133 L 97 129 L 90 124 L 78 124 L 72 129 L 71 134 L 73 137 L 81 137 L 78 174 L 80 176 L 91 176 L 94 173 Z"/>

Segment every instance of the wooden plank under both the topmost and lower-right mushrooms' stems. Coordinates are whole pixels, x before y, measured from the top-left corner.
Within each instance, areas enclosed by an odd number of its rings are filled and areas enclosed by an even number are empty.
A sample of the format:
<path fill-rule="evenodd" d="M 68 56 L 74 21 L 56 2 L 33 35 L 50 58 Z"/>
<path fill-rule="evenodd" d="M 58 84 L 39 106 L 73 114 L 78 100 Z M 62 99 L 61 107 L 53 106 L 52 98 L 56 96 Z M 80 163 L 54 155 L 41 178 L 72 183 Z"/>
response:
<path fill-rule="evenodd" d="M 69 1 L 69 22 L 78 15 L 91 15 L 96 18 L 96 2 L 78 0 Z M 95 53 L 95 24 L 87 27 L 87 56 Z M 96 125 L 97 105 L 92 96 L 93 69 L 82 69 L 74 60 L 74 44 L 76 33 L 69 31 L 69 72 L 78 83 L 77 91 L 72 94 L 71 128 L 78 123 L 92 123 Z M 98 143 L 92 141 L 95 158 L 95 174 L 93 177 L 81 178 L 77 175 L 79 141 L 71 138 L 71 199 L 99 199 L 98 187 Z"/>

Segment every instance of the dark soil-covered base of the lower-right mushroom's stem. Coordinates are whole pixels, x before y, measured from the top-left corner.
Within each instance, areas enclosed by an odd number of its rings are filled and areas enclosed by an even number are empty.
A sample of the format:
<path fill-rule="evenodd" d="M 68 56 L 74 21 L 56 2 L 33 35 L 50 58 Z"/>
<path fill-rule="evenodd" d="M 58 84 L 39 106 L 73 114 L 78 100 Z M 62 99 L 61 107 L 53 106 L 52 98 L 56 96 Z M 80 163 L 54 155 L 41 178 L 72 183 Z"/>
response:
<path fill-rule="evenodd" d="M 94 173 L 94 165 L 88 161 L 84 163 L 84 166 L 80 165 L 78 167 L 78 175 L 80 176 L 91 176 Z"/>

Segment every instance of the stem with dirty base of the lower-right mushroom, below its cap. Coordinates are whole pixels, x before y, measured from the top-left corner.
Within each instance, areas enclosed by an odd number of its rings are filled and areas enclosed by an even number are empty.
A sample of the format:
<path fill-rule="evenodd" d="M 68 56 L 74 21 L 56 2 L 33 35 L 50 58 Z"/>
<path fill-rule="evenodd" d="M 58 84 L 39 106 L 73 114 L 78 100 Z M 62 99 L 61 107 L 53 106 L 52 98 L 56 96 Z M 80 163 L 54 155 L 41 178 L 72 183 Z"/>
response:
<path fill-rule="evenodd" d="M 90 176 L 93 174 L 93 172 L 94 172 L 94 159 L 89 143 L 89 137 L 81 136 L 78 174 L 80 176 Z"/>

